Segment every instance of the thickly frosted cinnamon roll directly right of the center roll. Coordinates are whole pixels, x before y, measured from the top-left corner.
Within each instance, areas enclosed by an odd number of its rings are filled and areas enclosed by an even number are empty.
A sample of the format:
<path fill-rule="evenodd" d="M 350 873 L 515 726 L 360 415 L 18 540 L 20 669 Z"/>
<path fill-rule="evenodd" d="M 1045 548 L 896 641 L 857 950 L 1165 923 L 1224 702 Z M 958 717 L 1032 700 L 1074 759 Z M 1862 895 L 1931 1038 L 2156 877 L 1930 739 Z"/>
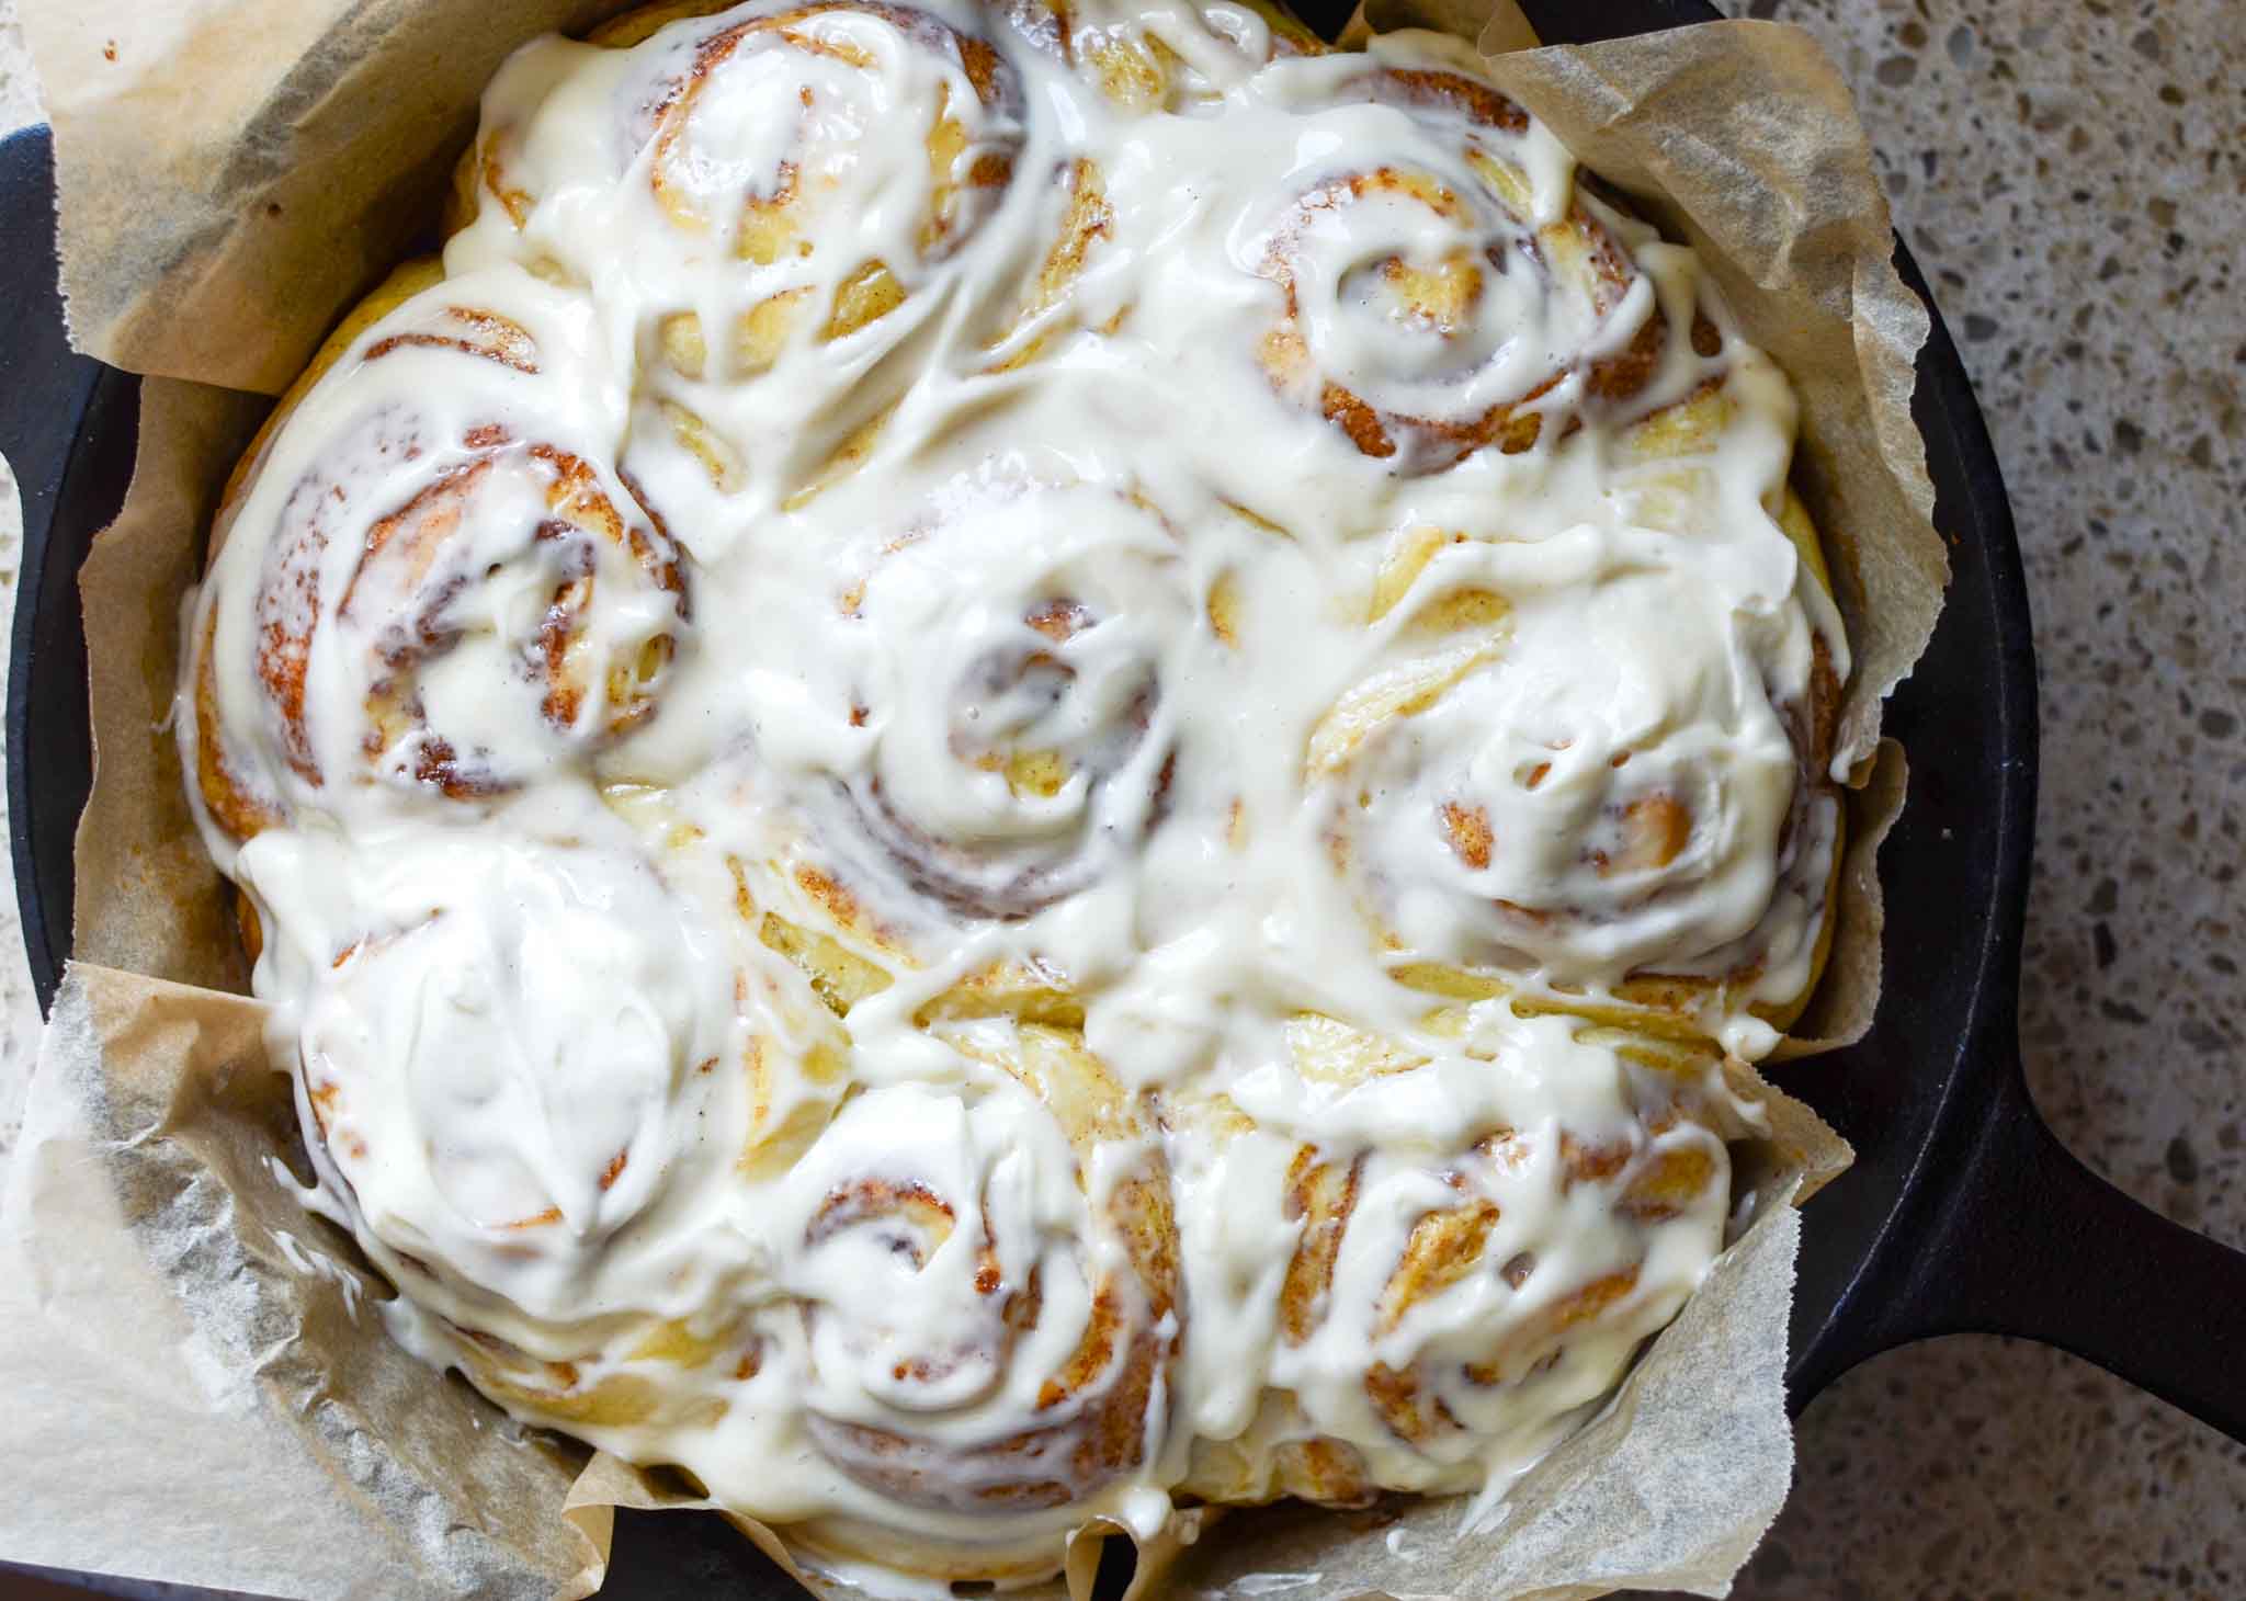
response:
<path fill-rule="evenodd" d="M 1350 871 L 1406 950 L 1613 984 L 1763 918 L 1804 763 L 1752 638 L 1669 546 L 1442 546 L 1426 586 L 1491 624 L 1426 638 L 1321 725 Z"/>

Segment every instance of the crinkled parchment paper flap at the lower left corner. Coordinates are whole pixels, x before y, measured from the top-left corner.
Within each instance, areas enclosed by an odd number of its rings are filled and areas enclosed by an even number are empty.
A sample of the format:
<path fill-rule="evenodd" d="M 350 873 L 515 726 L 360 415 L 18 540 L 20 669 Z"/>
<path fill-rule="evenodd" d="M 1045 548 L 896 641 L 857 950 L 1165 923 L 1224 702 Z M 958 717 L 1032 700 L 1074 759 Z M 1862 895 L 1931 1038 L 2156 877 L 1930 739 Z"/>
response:
<path fill-rule="evenodd" d="M 276 1161 L 254 1001 L 74 963 L 0 1199 L 9 1561 L 274 1597 L 582 1597 L 584 1451 L 402 1361 Z M 301 1159 L 299 1159 L 301 1161 Z"/>

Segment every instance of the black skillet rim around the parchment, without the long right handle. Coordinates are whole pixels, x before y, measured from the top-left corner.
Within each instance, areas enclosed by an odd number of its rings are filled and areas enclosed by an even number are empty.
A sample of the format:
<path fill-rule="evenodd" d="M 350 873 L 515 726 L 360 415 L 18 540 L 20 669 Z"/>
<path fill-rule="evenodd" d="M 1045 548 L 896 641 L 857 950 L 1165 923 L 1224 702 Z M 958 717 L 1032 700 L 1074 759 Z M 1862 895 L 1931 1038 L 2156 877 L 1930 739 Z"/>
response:
<path fill-rule="evenodd" d="M 1332 4 L 1300 7 L 1316 25 Z M 1523 0 L 1543 38 L 1570 43 L 1622 34 L 1658 31 L 1718 20 L 1707 0 Z M 1595 27 L 1586 27 L 1597 18 Z M 0 204 L 20 202 L 18 189 L 45 186 L 52 218 L 52 166 L 45 128 L 0 141 Z M 27 269 L 25 258 L 31 258 Z M 43 265 L 38 265 L 43 263 Z M 1956 1190 L 1952 1156 L 1972 1150 L 1979 1114 L 1985 1114 L 2017 1080 L 2015 1004 L 2021 923 L 2033 853 L 2037 703 L 2035 656 L 2026 579 L 2003 494 L 2001 469 L 1972 384 L 1956 355 L 1934 296 L 1909 249 L 1898 238 L 1896 265 L 1929 312 L 1929 339 L 1918 359 L 1914 411 L 1927 438 L 1929 472 L 1936 483 L 1936 525 L 1952 546 L 1952 591 L 1914 680 L 1889 705 L 1889 730 L 1909 748 L 1934 734 L 1979 759 L 1974 772 L 1918 768 L 1896 831 L 1882 849 L 1882 880 L 1893 885 L 1898 867 L 1914 856 L 1920 835 L 1941 833 L 1950 844 L 1981 844 L 1967 894 L 1947 896 L 1941 916 L 1929 907 L 1896 898 L 1889 905 L 1887 997 L 1873 1033 L 1857 1046 L 1781 1069 L 1779 1082 L 1817 1107 L 1857 1143 L 1857 1165 L 1817 1197 L 1815 1224 L 1804 1233 L 1801 1282 L 1795 1300 L 1788 1392 L 1799 1412 L 1830 1379 L 1882 1350 L 1898 1327 L 1896 1298 L 1916 1282 L 1918 1246 L 1938 1237 L 1938 1224 Z M 38 274 L 45 283 L 36 283 Z M 25 543 L 18 568 L 18 604 L 7 692 L 7 784 L 16 891 L 27 957 L 40 1013 L 54 999 L 70 948 L 70 862 L 76 815 L 90 781 L 90 737 L 85 732 L 85 644 L 74 604 L 74 577 L 99 528 L 115 514 L 130 478 L 137 440 L 139 379 L 61 346 L 61 303 L 54 287 L 54 254 L 20 251 L 0 263 L 0 301 L 27 308 L 18 337 L 45 312 L 52 339 L 25 357 L 0 344 L 0 384 L 18 395 L 61 393 L 63 406 L 29 427 L 45 449 L 16 454 L 9 418 L 0 411 L 0 436 L 9 436 L 11 460 L 25 465 Z M 34 278 L 20 283 L 20 278 Z M 52 312 L 47 310 L 52 308 Z M 4 323 L 0 323 L 4 330 Z M 1959 640 L 1981 624 L 1965 649 Z M 1981 656 L 1972 674 L 1967 705 L 1956 705 L 1941 660 Z M 1929 665 L 1936 669 L 1929 671 Z M 1959 674 L 1950 674 L 1959 676 Z M 1985 714 L 1976 719 L 1974 714 Z M 1981 723 L 1992 739 L 1972 739 Z M 1952 739 L 1965 734 L 1963 741 Z M 52 754 L 31 761 L 29 752 Z M 72 757 L 83 752 L 83 757 Z M 1959 779 L 1974 779 L 1972 786 Z M 1990 784 L 1990 793 L 1981 790 Z M 1950 822 L 1945 822 L 1950 820 Z M 1959 820 L 1967 824 L 1959 838 Z M 1972 826 L 1979 824 L 1979 826 Z M 1970 856 L 1943 851 L 1943 856 Z M 1927 882 L 1941 882 L 1927 880 Z M 1954 878 L 1950 882 L 1956 882 Z M 1961 903 L 1970 903 L 1961 914 Z M 1916 916 L 1914 916 L 1916 914 Z M 1938 930 L 1920 939 L 1911 925 Z M 1900 948 L 1900 950 L 1898 950 Z M 1941 990 L 1920 992 L 1898 979 L 1898 957 L 1911 950 L 1950 950 L 1956 961 L 1936 975 Z M 1898 992 L 1902 990 L 1902 992 Z M 1929 1001 L 1947 1001 L 1947 1017 L 1929 1017 Z M 1898 1017 L 1898 1013 L 1909 1013 Z M 1943 1026 L 1947 1022 L 1947 1028 Z M 1905 1096 L 1882 1094 L 1909 1091 Z M 618 1522 L 620 1547 L 647 1547 Z M 683 1545 L 674 1529 L 658 1549 Z M 701 1540 L 696 1540 L 701 1545 Z M 710 1563 L 716 1545 L 701 1558 Z M 732 1549 L 730 1545 L 725 1549 Z M 651 1558 L 618 1554 L 620 1576 Z M 665 1565 L 672 1565 L 665 1561 Z M 4 1570 L 7 1565 L 0 1565 Z M 645 1572 L 645 1570 L 642 1570 Z M 638 1585 L 633 1585 L 638 1588 Z"/>

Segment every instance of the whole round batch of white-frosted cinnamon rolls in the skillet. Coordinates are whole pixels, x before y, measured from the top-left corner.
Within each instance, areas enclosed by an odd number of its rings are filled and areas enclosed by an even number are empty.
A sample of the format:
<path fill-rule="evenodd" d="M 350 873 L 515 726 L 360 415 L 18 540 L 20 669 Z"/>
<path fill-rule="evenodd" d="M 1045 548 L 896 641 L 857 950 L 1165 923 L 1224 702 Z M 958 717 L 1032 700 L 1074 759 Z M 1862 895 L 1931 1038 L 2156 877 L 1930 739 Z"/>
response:
<path fill-rule="evenodd" d="M 400 1338 L 874 1590 L 1491 1504 L 1723 1248 L 1824 959 L 1792 442 L 1458 40 L 526 45 L 186 613 Z"/>

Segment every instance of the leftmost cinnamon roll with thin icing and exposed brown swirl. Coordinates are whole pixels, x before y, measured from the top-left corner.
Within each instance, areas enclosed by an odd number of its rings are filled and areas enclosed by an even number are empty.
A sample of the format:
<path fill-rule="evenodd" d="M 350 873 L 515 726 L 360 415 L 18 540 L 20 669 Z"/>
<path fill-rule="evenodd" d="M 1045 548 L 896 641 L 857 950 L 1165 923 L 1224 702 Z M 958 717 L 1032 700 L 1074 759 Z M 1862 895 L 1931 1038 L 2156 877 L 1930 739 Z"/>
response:
<path fill-rule="evenodd" d="M 573 427 L 584 308 L 505 290 L 508 314 L 449 281 L 364 328 L 220 516 L 184 732 L 236 840 L 366 790 L 499 797 L 656 712 L 685 570 Z"/>

